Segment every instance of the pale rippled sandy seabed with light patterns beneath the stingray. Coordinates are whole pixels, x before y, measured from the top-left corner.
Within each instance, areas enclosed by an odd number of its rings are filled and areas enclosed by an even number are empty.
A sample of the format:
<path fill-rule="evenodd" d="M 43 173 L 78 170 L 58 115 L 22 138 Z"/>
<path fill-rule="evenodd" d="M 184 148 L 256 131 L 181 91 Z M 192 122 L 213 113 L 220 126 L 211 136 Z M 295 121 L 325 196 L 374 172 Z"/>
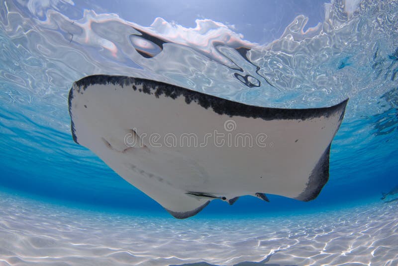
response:
<path fill-rule="evenodd" d="M 176 220 L 0 196 L 0 265 L 398 265 L 398 201 Z"/>

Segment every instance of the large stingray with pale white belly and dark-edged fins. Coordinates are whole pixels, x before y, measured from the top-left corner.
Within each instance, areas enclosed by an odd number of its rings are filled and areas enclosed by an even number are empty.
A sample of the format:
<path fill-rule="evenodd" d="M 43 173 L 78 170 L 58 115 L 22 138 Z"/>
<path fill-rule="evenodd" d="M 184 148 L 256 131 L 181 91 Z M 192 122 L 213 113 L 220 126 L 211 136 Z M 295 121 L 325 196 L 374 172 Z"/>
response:
<path fill-rule="evenodd" d="M 315 199 L 329 178 L 347 101 L 267 108 L 155 80 L 92 75 L 73 84 L 69 113 L 76 143 L 183 219 L 214 199 Z"/>

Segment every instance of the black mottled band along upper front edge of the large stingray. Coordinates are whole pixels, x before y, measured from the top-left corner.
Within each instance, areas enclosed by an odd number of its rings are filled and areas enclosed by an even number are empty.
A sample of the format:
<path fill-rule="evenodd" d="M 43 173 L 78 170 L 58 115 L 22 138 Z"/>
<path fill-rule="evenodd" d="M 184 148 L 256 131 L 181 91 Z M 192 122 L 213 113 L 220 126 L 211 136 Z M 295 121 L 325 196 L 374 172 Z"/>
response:
<path fill-rule="evenodd" d="M 210 94 L 201 93 L 195 90 L 179 87 L 160 81 L 127 77 L 127 76 L 111 76 L 111 75 L 92 75 L 84 77 L 75 82 L 77 91 L 83 93 L 84 90 L 90 85 L 97 84 L 118 84 L 119 86 L 137 86 L 144 85 L 145 88 L 141 93 L 154 95 L 159 98 L 160 95 L 176 99 L 180 96 L 185 97 L 185 102 L 191 104 L 197 102 L 201 107 L 208 109 L 211 108 L 219 115 L 228 115 L 230 117 L 251 117 L 261 118 L 263 120 L 307 120 L 317 117 L 329 117 L 336 112 L 343 112 L 347 105 L 348 99 L 341 103 L 324 108 L 308 108 L 308 109 L 283 109 L 283 108 L 269 108 L 255 105 L 248 105 L 236 101 L 219 98 Z M 134 88 L 134 87 L 133 87 Z M 73 89 L 69 94 L 73 98 Z M 71 102 L 71 100 L 69 101 Z M 343 115 L 341 116 L 342 119 Z"/>

